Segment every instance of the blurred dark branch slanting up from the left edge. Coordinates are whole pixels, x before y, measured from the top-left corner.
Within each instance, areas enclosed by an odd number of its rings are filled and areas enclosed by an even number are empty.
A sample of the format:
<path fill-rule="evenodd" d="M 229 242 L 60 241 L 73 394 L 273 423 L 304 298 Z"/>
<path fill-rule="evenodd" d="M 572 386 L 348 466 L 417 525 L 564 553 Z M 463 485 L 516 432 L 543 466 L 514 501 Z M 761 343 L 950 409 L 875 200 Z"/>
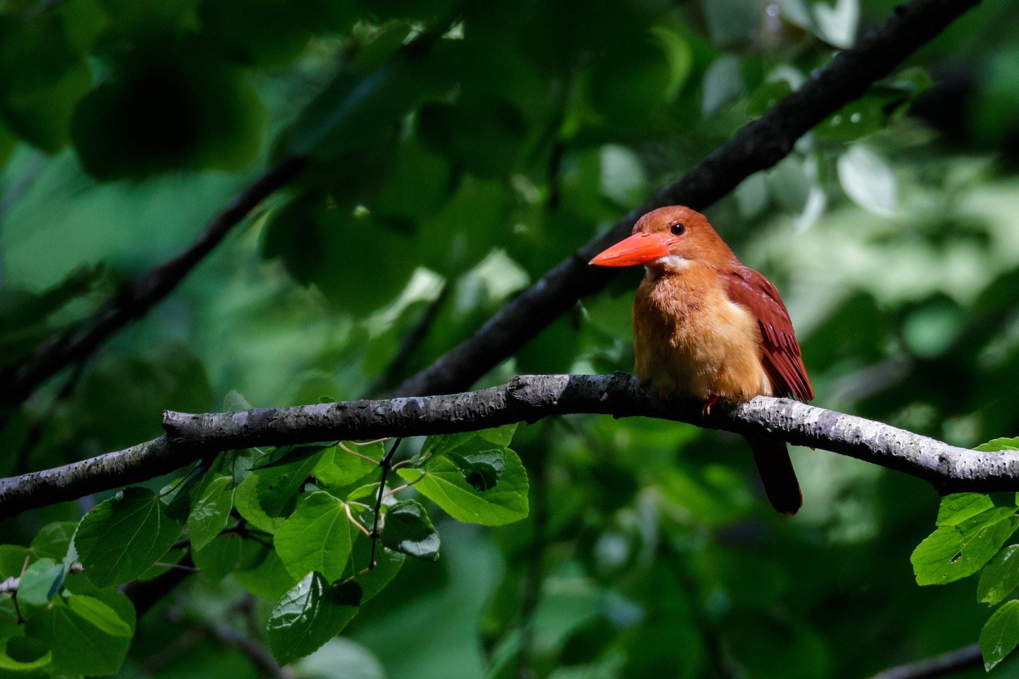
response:
<path fill-rule="evenodd" d="M 107 337 L 144 316 L 161 301 L 208 254 L 230 229 L 270 193 L 308 164 L 286 156 L 210 221 L 191 246 L 176 258 L 124 283 L 109 301 L 69 330 L 36 347 L 32 355 L 0 373 L 0 409 L 23 401 L 39 385 L 69 363 L 84 360 Z"/>

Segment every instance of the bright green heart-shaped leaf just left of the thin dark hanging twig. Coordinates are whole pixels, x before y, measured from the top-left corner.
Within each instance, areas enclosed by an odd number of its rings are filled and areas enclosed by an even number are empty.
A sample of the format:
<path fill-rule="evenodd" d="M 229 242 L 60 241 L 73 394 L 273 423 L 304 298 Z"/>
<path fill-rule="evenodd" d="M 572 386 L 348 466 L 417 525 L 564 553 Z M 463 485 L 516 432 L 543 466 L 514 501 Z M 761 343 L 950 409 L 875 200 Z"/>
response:
<path fill-rule="evenodd" d="M 274 543 L 279 558 L 296 579 L 317 571 L 333 582 L 343 575 L 359 532 L 347 518 L 346 505 L 319 491 L 308 496 L 283 521 Z"/>

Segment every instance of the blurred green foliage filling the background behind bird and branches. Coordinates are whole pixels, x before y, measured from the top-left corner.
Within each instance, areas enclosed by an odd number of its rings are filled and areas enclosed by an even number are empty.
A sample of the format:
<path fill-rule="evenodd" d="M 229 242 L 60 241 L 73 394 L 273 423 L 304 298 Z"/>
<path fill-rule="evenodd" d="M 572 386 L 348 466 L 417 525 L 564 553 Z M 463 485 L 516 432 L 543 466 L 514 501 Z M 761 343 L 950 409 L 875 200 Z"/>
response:
<path fill-rule="evenodd" d="M 177 253 L 283 154 L 313 163 L 170 298 L 10 415 L 4 475 L 155 437 L 164 408 L 314 403 L 392 386 L 893 5 L 5 0 L 0 364 Z M 966 447 L 1019 434 L 1017 82 L 1019 9 L 986 0 L 710 208 L 742 261 L 782 291 L 818 405 Z M 639 275 L 583 299 L 479 386 L 632 370 Z M 405 442 L 400 454 L 422 446 Z M 473 452 L 441 458 L 435 478 L 477 500 L 509 474 L 521 497 L 500 516 L 527 518 L 464 525 L 444 510 L 468 510 L 436 504 L 440 482 L 404 491 L 393 515 L 404 523 L 392 524 L 401 530 L 385 544 L 422 558 L 406 559 L 370 601 L 367 588 L 329 599 L 323 615 L 335 624 L 355 600 L 363 606 L 342 636 L 290 665 L 298 676 L 856 679 L 971 643 L 987 622 L 977 577 L 917 586 L 910 555 L 938 499 L 915 478 L 794 449 L 805 505 L 786 519 L 767 507 L 738 437 L 571 416 L 522 425 L 513 446 L 526 478 Z M 316 473 L 322 488 L 343 489 L 339 502 L 374 492 L 368 471 L 325 457 Z M 68 574 L 45 624 L 8 637 L 0 670 L 39 676 L 47 644 L 60 646 L 48 630 L 84 619 L 107 653 L 54 650 L 44 667 L 261 672 L 230 639 L 268 647 L 280 597 L 304 580 L 298 593 L 327 591 L 346 562 L 319 582 L 289 553 L 218 534 L 228 506 L 258 535 L 280 530 L 297 506 L 291 496 L 267 512 L 268 482 L 242 483 L 245 464 L 227 462 L 200 467 L 208 483 L 186 487 L 184 509 L 201 511 L 174 524 L 195 541 L 201 575 L 135 630 L 115 588 Z M 157 506 L 153 494 L 185 471 L 127 499 Z M 0 575 L 19 575 L 28 556 L 23 605 L 55 602 L 69 530 L 123 502 L 107 493 L 0 523 Z M 981 553 L 989 574 L 976 585 L 981 602 L 1001 602 L 991 631 L 1019 619 L 1017 539 L 1002 540 Z M 136 566 L 102 583 L 167 568 Z M 17 627 L 10 601 L 0 599 L 0 632 Z M 1010 637 L 998 638 L 1004 648 Z M 991 674 L 1019 676 L 1019 665 L 1006 659 Z"/>

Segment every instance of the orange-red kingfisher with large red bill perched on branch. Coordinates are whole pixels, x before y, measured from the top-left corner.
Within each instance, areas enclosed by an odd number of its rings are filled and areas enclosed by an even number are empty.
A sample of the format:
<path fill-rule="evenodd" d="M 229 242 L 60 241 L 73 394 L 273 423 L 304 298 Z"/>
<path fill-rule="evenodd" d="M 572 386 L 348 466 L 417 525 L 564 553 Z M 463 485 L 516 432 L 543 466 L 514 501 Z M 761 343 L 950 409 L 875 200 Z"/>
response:
<path fill-rule="evenodd" d="M 634 374 L 651 393 L 702 401 L 704 416 L 719 401 L 813 399 L 779 290 L 740 264 L 704 215 L 684 206 L 653 210 L 590 264 L 646 269 L 633 303 Z M 743 438 L 771 506 L 795 514 L 803 496 L 786 442 Z"/>

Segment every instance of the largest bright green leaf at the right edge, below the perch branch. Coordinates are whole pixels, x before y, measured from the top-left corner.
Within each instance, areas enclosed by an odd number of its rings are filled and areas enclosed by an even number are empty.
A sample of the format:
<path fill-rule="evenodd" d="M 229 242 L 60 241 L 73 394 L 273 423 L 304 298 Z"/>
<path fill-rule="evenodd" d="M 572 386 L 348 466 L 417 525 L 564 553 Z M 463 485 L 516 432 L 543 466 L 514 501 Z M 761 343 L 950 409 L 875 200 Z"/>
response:
<path fill-rule="evenodd" d="M 959 525 L 941 526 L 913 551 L 917 584 L 946 584 L 972 575 L 1015 532 L 1014 508 L 988 509 Z"/>

